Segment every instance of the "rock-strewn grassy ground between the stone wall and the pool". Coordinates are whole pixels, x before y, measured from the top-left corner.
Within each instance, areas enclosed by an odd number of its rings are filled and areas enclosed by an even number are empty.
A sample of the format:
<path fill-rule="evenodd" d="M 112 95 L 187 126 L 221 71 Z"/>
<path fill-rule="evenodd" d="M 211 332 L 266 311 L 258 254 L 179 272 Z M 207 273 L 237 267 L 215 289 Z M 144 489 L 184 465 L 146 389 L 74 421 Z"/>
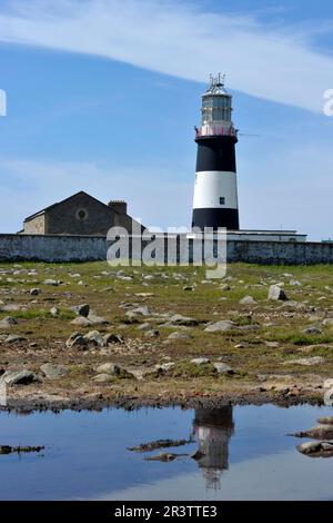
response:
<path fill-rule="evenodd" d="M 47 279 L 59 284 L 46 285 Z M 283 284 L 287 302 L 268 299 L 272 284 Z M 31 295 L 32 288 L 40 294 Z M 252 296 L 255 303 L 241 305 L 244 296 Z M 253 392 L 274 396 L 284 391 L 291 397 L 320 397 L 323 381 L 333 377 L 333 326 L 327 322 L 333 317 L 332 266 L 233 264 L 225 278 L 206 280 L 202 267 L 0 264 L 0 324 L 8 316 L 17 320 L 0 327 L 0 368 L 40 374 L 40 365 L 51 363 L 68 371 L 59 379 L 14 387 L 12 394 L 53 391 L 64 397 L 100 394 L 110 399 L 179 399 Z M 77 315 L 71 307 L 84 303 L 108 324 L 73 325 Z M 52 307 L 58 308 L 56 316 L 50 313 Z M 127 313 L 137 307 L 148 307 L 148 314 L 130 320 Z M 198 325 L 172 325 L 172 314 L 191 317 Z M 224 319 L 234 322 L 231 330 L 205 330 Z M 138 328 L 143 323 L 149 327 Z M 316 329 L 307 333 L 309 327 Z M 124 342 L 84 351 L 65 345 L 74 332 L 84 335 L 90 330 L 119 334 Z M 148 337 L 148 330 L 155 330 L 154 337 Z M 186 337 L 170 339 L 174 332 Z M 9 334 L 24 339 L 8 342 Z M 292 363 L 317 356 L 321 358 L 313 364 Z M 206 357 L 209 363 L 191 363 L 198 357 Z M 95 368 L 107 362 L 135 377 L 124 373 L 97 383 Z M 168 362 L 174 363 L 168 371 L 155 368 Z M 219 374 L 213 366 L 216 362 L 228 364 L 233 374 Z"/>

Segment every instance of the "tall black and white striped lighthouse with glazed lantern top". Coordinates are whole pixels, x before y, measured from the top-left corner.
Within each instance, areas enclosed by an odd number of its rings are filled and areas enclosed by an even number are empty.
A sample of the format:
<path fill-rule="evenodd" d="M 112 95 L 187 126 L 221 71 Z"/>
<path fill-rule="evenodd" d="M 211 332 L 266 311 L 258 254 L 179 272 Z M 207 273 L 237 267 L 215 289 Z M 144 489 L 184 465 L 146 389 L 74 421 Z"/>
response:
<path fill-rule="evenodd" d="M 198 144 L 192 227 L 225 227 L 238 230 L 239 205 L 235 165 L 238 131 L 231 119 L 232 96 L 224 77 L 211 76 L 202 96 L 201 127 L 195 127 Z"/>

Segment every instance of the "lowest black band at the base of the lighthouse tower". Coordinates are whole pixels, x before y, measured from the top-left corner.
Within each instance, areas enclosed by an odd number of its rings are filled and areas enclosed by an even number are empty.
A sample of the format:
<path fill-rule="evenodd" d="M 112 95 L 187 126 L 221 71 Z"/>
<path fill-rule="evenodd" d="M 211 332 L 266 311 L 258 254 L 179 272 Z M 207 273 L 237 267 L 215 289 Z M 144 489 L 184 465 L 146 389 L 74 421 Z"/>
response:
<path fill-rule="evenodd" d="M 229 230 L 238 230 L 240 228 L 239 209 L 193 209 L 192 227 L 212 227 L 218 230 L 224 227 Z"/>

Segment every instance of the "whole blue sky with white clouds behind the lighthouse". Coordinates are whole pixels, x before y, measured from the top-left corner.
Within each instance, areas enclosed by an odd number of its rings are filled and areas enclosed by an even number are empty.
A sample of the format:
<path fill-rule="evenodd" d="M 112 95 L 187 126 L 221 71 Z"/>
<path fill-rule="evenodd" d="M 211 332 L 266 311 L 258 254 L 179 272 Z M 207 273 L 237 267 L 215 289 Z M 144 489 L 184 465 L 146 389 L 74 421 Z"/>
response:
<path fill-rule="evenodd" d="M 243 228 L 333 237 L 329 0 L 0 4 L 0 229 L 84 189 L 149 226 L 191 221 L 200 96 L 234 96 Z"/>

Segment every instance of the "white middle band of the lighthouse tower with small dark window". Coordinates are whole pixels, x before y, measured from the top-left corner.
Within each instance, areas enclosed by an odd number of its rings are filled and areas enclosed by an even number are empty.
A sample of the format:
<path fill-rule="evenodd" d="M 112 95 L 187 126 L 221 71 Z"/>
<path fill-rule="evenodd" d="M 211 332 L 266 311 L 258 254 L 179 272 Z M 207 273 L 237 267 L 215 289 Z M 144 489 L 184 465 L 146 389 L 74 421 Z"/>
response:
<path fill-rule="evenodd" d="M 193 209 L 238 209 L 236 174 L 203 170 L 195 174 Z"/>

